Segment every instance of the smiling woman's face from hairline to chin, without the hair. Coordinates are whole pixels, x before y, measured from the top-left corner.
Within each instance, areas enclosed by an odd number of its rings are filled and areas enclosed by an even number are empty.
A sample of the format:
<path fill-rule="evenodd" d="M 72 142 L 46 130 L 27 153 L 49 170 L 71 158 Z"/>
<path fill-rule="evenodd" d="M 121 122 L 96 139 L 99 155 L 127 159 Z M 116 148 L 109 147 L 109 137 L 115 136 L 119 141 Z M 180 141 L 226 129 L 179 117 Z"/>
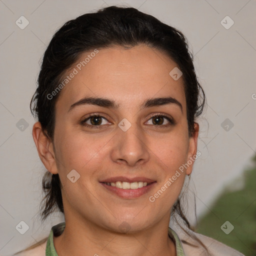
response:
<path fill-rule="evenodd" d="M 188 136 L 182 76 L 169 74 L 175 67 L 156 49 L 116 46 L 82 54 L 66 73 L 48 165 L 63 186 L 66 220 L 115 231 L 168 222 L 197 140 Z"/>

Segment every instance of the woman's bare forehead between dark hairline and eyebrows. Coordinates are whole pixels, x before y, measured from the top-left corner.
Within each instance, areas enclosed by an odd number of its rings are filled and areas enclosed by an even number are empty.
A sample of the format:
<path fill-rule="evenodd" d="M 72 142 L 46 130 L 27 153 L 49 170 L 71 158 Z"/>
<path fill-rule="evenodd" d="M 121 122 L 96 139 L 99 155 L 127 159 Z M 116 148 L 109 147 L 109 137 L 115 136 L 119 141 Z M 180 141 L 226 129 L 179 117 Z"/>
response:
<path fill-rule="evenodd" d="M 174 80 L 169 75 L 176 66 L 165 53 L 145 45 L 84 52 L 65 73 L 68 81 L 56 107 L 61 102 L 68 107 L 84 96 L 104 96 L 126 104 L 133 99 L 132 104 L 136 100 L 140 104 L 145 98 L 169 95 L 185 104 L 182 76 Z"/>

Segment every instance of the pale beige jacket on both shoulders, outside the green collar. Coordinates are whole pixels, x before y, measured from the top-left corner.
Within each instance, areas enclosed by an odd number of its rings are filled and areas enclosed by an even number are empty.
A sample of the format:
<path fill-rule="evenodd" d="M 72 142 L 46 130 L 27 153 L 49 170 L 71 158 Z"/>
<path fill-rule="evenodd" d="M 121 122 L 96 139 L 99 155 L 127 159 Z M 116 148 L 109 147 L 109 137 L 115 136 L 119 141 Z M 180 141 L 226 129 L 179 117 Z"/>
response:
<path fill-rule="evenodd" d="M 208 236 L 198 234 L 195 232 L 191 232 L 195 234 L 202 242 L 203 244 L 207 247 L 208 253 L 205 251 L 204 248 L 201 246 L 199 247 L 193 247 L 191 245 L 188 245 L 182 240 L 185 240 L 187 242 L 190 242 L 194 245 L 198 244 L 194 239 L 191 238 L 191 236 L 188 236 L 185 232 L 182 230 L 176 231 L 175 232 L 178 234 L 179 239 L 181 240 L 181 244 L 185 253 L 185 256 L 244 256 L 242 253 L 239 251 L 230 248 L 229 246 L 214 240 L 213 238 L 210 238 Z M 45 256 L 45 248 L 46 248 L 46 241 L 37 246 L 34 249 L 31 249 L 27 252 L 22 252 L 17 254 L 17 256 Z"/>

